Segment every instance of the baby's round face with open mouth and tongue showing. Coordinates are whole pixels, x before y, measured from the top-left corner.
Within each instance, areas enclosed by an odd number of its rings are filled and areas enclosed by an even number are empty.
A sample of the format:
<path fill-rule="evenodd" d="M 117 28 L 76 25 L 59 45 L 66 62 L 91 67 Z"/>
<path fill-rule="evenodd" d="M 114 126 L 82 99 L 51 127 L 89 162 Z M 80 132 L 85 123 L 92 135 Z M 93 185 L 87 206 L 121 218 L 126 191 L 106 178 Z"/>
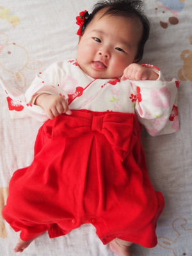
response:
<path fill-rule="evenodd" d="M 77 63 L 95 79 L 120 77 L 127 66 L 137 61 L 142 27 L 124 17 L 101 16 L 101 12 L 97 13 L 84 31 Z"/>

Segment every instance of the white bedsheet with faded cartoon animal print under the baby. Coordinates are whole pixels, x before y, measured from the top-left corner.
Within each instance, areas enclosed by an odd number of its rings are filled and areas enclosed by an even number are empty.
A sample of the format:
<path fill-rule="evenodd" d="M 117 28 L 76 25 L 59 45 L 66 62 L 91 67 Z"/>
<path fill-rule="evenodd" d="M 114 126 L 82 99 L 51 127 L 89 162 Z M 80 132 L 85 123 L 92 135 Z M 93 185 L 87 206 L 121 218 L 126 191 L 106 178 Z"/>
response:
<path fill-rule="evenodd" d="M 54 61 L 74 58 L 78 44 L 76 16 L 91 12 L 95 0 L 1 0 L 0 75 L 25 92 L 35 74 Z M 180 80 L 180 131 L 151 137 L 143 129 L 142 143 L 152 184 L 164 195 L 166 206 L 157 223 L 155 248 L 132 246 L 133 255 L 192 255 L 192 1 L 146 0 L 150 38 L 141 63 L 159 67 L 166 80 Z M 0 86 L 0 255 L 15 255 L 19 234 L 3 220 L 8 184 L 15 170 L 28 166 L 40 122 L 32 118 L 12 120 L 6 95 Z M 16 253 L 20 256 L 21 253 Z M 67 236 L 39 237 L 23 256 L 113 256 L 92 225 L 83 225 Z"/>

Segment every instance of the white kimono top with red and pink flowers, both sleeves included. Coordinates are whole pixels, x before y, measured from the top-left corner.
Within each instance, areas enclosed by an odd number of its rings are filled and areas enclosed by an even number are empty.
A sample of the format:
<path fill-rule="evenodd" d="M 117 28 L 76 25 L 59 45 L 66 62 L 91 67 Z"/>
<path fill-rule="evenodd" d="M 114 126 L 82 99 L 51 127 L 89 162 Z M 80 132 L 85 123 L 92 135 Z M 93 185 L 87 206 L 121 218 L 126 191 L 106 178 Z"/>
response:
<path fill-rule="evenodd" d="M 40 93 L 64 97 L 70 109 L 135 113 L 152 136 L 179 131 L 177 89 L 179 81 L 164 81 L 161 71 L 152 66 L 156 81 L 121 81 L 93 79 L 81 70 L 75 59 L 58 61 L 39 72 L 31 86 L 22 94 L 1 77 L 12 118 L 32 116 L 40 122 L 47 117 L 44 109 L 33 103 Z"/>

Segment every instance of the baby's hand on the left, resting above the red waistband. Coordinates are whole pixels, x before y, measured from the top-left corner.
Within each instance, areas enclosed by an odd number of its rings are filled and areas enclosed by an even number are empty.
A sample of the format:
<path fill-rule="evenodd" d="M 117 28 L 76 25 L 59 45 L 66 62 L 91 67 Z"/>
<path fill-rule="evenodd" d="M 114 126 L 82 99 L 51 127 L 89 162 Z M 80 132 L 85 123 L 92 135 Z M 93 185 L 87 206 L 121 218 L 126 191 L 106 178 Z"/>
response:
<path fill-rule="evenodd" d="M 67 101 L 60 95 L 51 95 L 42 93 L 35 100 L 35 105 L 41 106 L 49 119 L 54 119 L 55 116 L 66 113 L 70 115 L 72 112 L 68 108 Z"/>

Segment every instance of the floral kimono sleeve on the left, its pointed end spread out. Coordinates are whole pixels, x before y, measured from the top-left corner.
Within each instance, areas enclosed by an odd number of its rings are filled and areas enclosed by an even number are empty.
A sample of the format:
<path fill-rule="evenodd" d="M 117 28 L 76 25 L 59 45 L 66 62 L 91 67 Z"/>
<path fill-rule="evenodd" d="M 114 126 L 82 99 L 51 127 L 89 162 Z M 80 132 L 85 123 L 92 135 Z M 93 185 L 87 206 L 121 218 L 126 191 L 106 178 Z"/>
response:
<path fill-rule="evenodd" d="M 31 116 L 40 122 L 47 121 L 49 118 L 44 109 L 34 104 L 35 99 L 41 93 L 60 95 L 67 98 L 67 93 L 60 87 L 62 77 L 65 77 L 65 71 L 62 68 L 61 61 L 53 63 L 44 72 L 36 74 L 26 93 L 20 92 L 0 77 L 0 83 L 6 93 L 11 117 L 14 119 Z"/>

